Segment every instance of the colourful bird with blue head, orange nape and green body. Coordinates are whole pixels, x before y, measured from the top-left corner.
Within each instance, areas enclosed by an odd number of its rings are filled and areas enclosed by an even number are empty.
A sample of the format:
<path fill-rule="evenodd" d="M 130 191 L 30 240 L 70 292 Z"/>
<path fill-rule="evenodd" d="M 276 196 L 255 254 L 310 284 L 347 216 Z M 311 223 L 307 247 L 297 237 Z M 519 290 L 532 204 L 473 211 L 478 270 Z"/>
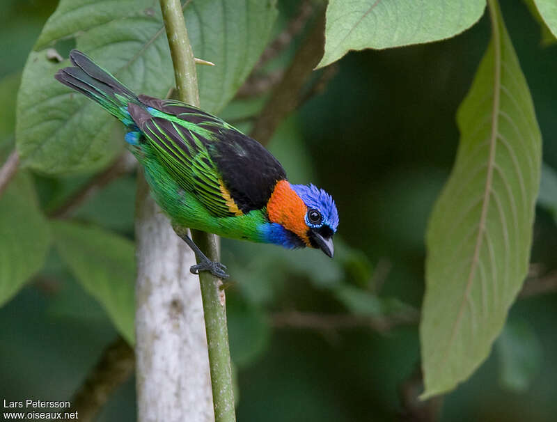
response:
<path fill-rule="evenodd" d="M 118 118 L 127 148 L 143 166 L 150 192 L 175 232 L 196 254 L 190 271 L 228 278 L 187 228 L 222 237 L 309 247 L 334 256 L 334 199 L 315 185 L 288 182 L 280 162 L 258 141 L 191 104 L 136 95 L 77 49 L 54 76 Z"/>

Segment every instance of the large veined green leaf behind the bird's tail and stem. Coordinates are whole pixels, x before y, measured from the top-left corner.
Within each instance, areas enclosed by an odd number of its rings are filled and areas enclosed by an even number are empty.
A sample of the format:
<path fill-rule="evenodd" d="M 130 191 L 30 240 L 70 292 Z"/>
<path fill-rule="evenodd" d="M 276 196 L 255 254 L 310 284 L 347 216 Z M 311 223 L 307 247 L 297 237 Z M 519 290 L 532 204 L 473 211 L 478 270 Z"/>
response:
<path fill-rule="evenodd" d="M 265 47 L 274 1 L 189 1 L 185 18 L 194 54 L 216 63 L 198 66 L 201 105 L 221 109 Z M 121 148 L 115 120 L 54 73 L 68 61 L 49 60 L 49 48 L 74 39 L 104 68 L 138 93 L 163 97 L 173 86 L 168 42 L 155 0 L 61 0 L 27 60 L 17 99 L 17 149 L 26 166 L 46 173 L 97 169 Z"/>

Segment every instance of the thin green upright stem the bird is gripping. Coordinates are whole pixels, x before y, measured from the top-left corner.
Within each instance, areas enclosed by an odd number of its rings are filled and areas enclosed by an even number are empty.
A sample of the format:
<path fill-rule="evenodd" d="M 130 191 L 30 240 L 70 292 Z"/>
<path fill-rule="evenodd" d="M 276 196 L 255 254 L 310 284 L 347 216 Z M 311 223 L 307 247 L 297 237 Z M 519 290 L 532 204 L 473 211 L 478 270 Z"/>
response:
<path fill-rule="evenodd" d="M 179 0 L 160 0 L 174 75 L 180 100 L 199 106 L 194 54 Z M 218 260 L 214 235 L 194 231 L 194 241 L 210 260 Z M 178 238 L 178 237 L 176 237 Z M 235 421 L 230 350 L 226 327 L 226 301 L 221 281 L 209 272 L 201 272 L 201 295 L 211 371 L 214 417 L 217 422 Z"/>

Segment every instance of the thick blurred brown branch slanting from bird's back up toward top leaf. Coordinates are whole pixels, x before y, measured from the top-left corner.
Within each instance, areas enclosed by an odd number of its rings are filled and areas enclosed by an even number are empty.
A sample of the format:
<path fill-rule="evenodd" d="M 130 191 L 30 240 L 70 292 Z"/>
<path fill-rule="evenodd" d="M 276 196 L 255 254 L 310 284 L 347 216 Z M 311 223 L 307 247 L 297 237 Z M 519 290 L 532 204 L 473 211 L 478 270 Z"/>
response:
<path fill-rule="evenodd" d="M 320 10 L 320 15 L 317 17 L 311 33 L 295 54 L 292 64 L 286 70 L 283 79 L 274 89 L 253 125 L 251 137 L 263 145 L 269 142 L 278 125 L 299 104 L 301 88 L 323 55 L 324 22 L 324 10 Z"/>

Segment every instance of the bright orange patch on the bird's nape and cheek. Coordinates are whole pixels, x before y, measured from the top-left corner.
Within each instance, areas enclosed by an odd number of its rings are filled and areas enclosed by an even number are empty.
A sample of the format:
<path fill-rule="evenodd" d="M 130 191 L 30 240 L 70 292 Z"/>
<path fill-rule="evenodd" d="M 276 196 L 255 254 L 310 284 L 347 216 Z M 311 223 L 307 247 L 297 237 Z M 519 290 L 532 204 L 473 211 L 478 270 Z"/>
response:
<path fill-rule="evenodd" d="M 277 182 L 267 203 L 267 214 L 273 223 L 281 224 L 287 230 L 296 233 L 306 246 L 310 247 L 308 225 L 306 224 L 307 207 L 286 180 Z"/>

